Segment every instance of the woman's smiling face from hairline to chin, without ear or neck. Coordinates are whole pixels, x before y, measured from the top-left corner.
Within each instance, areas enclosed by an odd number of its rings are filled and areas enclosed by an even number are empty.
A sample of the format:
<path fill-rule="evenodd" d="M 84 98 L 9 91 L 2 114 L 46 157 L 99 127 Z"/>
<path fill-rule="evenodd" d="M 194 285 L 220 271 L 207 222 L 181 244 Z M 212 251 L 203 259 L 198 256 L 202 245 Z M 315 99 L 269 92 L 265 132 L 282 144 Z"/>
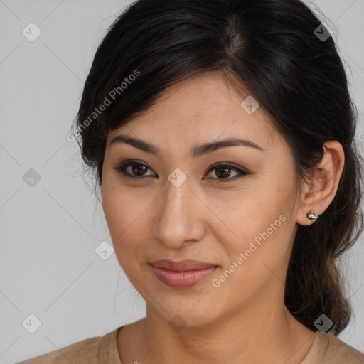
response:
<path fill-rule="evenodd" d="M 299 211 L 294 161 L 267 114 L 243 100 L 218 73 L 201 74 L 109 132 L 102 204 L 115 254 L 149 309 L 166 321 L 178 314 L 198 326 L 283 304 Z M 119 135 L 153 151 L 110 144 Z M 251 144 L 203 147 L 231 139 Z M 127 160 L 134 165 L 124 172 L 134 178 L 116 169 Z M 152 268 L 159 259 L 217 267 L 200 270 L 203 279 L 192 284 L 181 279 L 186 273 Z"/>

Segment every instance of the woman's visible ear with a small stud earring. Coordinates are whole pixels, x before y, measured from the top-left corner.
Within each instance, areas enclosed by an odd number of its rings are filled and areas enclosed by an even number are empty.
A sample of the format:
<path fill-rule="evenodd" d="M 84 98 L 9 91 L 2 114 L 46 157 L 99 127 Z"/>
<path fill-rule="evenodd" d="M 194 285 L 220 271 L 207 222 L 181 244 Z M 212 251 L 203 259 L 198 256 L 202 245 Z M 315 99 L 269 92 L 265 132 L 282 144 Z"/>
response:
<path fill-rule="evenodd" d="M 314 177 L 302 186 L 296 215 L 296 222 L 299 225 L 311 225 L 315 222 L 307 218 L 306 214 L 309 210 L 314 210 L 319 216 L 331 204 L 338 190 L 344 161 L 343 146 L 338 141 L 326 141 L 323 144 L 323 157 L 316 168 Z"/>

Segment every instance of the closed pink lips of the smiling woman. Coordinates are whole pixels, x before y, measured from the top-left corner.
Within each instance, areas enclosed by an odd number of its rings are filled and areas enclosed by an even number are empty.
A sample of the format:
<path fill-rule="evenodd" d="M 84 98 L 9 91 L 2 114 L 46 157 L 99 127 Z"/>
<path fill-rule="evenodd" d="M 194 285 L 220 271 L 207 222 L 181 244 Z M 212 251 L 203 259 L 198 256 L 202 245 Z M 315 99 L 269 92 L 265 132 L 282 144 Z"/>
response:
<path fill-rule="evenodd" d="M 173 262 L 163 259 L 150 264 L 156 277 L 166 286 L 173 288 L 192 287 L 208 278 L 218 267 L 215 264 L 197 260 Z"/>

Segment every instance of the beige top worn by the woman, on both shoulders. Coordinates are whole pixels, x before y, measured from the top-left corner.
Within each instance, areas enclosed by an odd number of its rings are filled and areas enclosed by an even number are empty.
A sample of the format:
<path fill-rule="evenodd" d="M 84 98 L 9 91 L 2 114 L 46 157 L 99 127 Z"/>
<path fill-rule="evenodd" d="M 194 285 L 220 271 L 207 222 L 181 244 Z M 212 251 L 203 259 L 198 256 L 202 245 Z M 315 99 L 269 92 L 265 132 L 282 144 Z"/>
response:
<path fill-rule="evenodd" d="M 105 336 L 87 338 L 16 364 L 122 364 L 117 350 L 121 326 Z M 309 353 L 301 364 L 364 364 L 364 354 L 331 333 L 316 332 Z"/>

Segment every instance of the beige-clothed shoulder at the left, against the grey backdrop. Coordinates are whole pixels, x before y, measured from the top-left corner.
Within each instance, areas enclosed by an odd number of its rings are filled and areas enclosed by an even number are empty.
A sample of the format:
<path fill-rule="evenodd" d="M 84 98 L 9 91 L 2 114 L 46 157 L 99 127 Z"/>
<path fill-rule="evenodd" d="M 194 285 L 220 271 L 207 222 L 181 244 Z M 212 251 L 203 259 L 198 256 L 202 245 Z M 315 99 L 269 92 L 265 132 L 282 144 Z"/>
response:
<path fill-rule="evenodd" d="M 101 349 L 109 345 L 109 341 L 115 332 L 112 331 L 105 336 L 86 338 L 58 350 L 15 364 L 99 364 Z"/>

